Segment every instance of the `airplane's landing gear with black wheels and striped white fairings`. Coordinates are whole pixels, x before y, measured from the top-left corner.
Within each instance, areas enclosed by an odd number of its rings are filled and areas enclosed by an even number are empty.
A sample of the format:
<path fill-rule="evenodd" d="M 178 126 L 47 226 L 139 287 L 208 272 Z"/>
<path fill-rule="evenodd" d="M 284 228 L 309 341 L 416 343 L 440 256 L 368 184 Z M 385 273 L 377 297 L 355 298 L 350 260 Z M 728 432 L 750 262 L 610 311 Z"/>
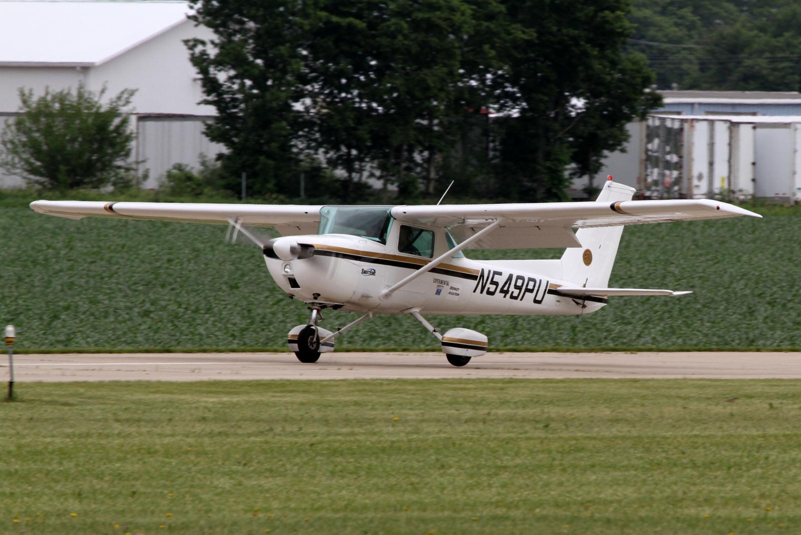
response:
<path fill-rule="evenodd" d="M 312 317 L 308 324 L 298 325 L 293 328 L 287 336 L 289 349 L 295 353 L 300 362 L 312 364 L 320 359 L 321 353 L 332 352 L 334 350 L 334 339 L 344 332 L 356 327 L 364 320 L 372 318 L 372 312 L 368 312 L 361 316 L 358 320 L 352 321 L 345 325 L 343 328 L 336 329 L 336 332 L 326 331 L 321 328 L 318 323 L 323 320 L 320 314 L 322 309 L 327 306 L 325 304 L 312 304 L 309 310 L 312 311 Z M 441 341 L 442 352 L 445 353 L 445 358 L 448 359 L 450 364 L 461 368 L 467 365 L 474 356 L 481 356 L 487 352 L 487 337 L 482 335 L 481 332 L 471 331 L 461 327 L 449 329 L 444 335 L 440 334 L 440 330 L 434 328 L 429 324 L 423 316 L 420 315 L 420 308 L 410 308 L 404 311 L 412 315 L 417 321 L 423 324 L 431 334 L 437 336 Z"/>

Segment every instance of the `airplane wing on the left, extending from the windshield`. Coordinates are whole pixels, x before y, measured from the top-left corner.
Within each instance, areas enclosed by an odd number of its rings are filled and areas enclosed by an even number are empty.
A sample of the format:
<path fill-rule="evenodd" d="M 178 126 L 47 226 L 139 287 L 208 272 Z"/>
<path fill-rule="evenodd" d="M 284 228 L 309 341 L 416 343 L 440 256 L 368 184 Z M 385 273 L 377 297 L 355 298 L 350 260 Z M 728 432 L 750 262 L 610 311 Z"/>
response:
<path fill-rule="evenodd" d="M 230 223 L 275 227 L 282 235 L 316 234 L 322 206 L 300 204 L 104 203 L 103 201 L 38 200 L 30 207 L 40 214 L 69 219 L 99 216 L 186 223 Z"/>

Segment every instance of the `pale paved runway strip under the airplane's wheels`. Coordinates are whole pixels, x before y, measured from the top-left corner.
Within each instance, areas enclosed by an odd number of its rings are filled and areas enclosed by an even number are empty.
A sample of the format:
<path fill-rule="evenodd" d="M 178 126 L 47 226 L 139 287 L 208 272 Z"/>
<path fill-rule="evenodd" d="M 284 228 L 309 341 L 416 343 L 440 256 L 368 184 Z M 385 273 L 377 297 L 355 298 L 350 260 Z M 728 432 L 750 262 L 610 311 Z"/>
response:
<path fill-rule="evenodd" d="M 0 356 L 0 380 L 8 364 Z M 801 379 L 801 352 L 489 353 L 464 368 L 437 352 L 348 353 L 301 364 L 292 353 L 16 355 L 17 381 L 719 378 Z"/>

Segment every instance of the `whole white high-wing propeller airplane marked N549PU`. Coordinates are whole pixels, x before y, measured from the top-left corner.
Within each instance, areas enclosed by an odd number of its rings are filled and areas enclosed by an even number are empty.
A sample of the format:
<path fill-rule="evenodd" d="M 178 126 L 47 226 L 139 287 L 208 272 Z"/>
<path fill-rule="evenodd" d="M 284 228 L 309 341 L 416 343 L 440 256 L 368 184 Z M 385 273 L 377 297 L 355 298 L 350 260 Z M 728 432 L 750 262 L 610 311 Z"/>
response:
<path fill-rule="evenodd" d="M 337 336 L 376 314 L 409 314 L 441 341 L 454 366 L 487 351 L 487 336 L 467 328 L 445 333 L 434 314 L 581 316 L 610 296 L 680 296 L 690 292 L 607 288 L 622 225 L 737 215 L 752 211 L 710 199 L 631 200 L 634 188 L 606 181 L 598 199 L 581 203 L 421 206 L 301 206 L 211 203 L 46 201 L 34 211 L 70 219 L 98 215 L 228 223 L 262 247 L 276 284 L 309 305 L 307 324 L 288 335 L 300 362 L 334 350 Z M 247 226 L 275 227 L 261 242 Z M 578 228 L 574 232 L 573 228 Z M 566 247 L 561 259 L 472 260 L 462 249 Z M 325 308 L 362 314 L 331 332 Z"/>

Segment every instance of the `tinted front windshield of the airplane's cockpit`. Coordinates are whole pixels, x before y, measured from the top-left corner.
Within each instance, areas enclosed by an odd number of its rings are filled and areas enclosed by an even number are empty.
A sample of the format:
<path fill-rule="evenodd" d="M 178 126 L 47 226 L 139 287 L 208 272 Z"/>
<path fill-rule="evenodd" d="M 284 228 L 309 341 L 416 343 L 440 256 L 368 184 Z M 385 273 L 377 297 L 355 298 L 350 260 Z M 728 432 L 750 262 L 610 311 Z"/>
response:
<path fill-rule="evenodd" d="M 350 234 L 387 243 L 391 206 L 326 206 L 320 210 L 317 234 Z"/>

